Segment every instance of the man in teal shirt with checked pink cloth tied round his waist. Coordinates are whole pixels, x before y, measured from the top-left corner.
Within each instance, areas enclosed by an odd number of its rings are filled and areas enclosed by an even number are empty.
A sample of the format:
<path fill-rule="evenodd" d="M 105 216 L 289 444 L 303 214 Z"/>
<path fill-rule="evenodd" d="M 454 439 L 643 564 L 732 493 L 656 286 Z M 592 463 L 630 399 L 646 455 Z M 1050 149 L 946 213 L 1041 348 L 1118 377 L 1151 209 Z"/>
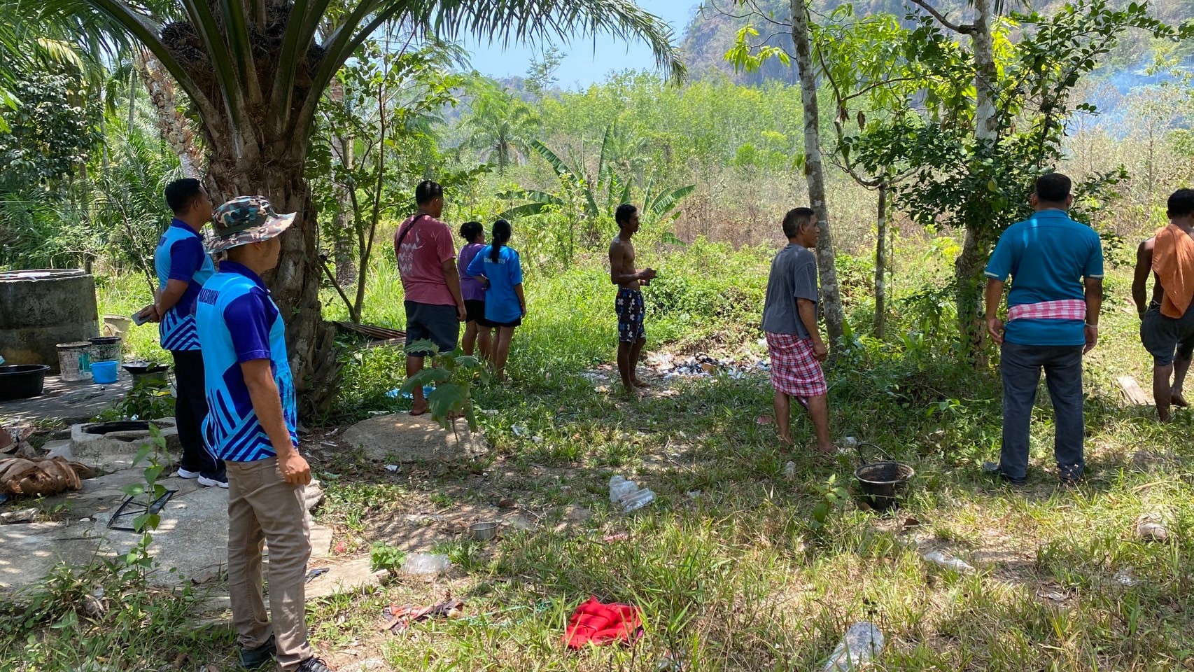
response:
<path fill-rule="evenodd" d="M 1072 203 L 1070 178 L 1036 178 L 1036 214 L 1003 232 L 986 266 L 986 328 L 1002 346 L 1003 449 L 998 464 L 984 467 L 1016 486 L 1027 480 L 1029 421 L 1041 369 L 1053 400 L 1053 452 L 1061 483 L 1076 483 L 1085 464 L 1082 356 L 1098 341 L 1103 248 L 1094 229 L 1070 218 Z M 996 313 L 1008 276 L 1013 282 L 1004 326 Z"/>

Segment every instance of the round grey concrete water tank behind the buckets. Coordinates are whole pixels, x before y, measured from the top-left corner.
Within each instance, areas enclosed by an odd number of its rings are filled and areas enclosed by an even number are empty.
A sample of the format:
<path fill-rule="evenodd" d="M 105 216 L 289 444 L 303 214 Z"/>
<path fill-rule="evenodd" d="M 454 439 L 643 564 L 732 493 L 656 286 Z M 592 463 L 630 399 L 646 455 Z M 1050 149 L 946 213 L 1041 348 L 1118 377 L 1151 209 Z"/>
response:
<path fill-rule="evenodd" d="M 96 282 L 75 269 L 0 272 L 0 356 L 59 372 L 57 344 L 99 335 Z"/>

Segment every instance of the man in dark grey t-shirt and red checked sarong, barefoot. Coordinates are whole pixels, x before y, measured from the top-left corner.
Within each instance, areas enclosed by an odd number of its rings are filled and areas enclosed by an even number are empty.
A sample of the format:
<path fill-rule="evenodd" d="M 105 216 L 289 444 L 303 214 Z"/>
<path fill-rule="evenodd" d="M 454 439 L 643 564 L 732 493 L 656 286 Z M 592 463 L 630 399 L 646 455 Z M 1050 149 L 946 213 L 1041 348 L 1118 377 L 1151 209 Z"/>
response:
<path fill-rule="evenodd" d="M 820 363 L 829 349 L 817 328 L 817 247 L 820 228 L 810 208 L 794 208 L 783 217 L 788 245 L 771 261 L 763 303 L 763 331 L 771 358 L 775 388 L 775 425 L 780 440 L 792 444 L 792 399 L 808 409 L 817 431 L 817 450 L 833 452 L 829 439 L 829 403 Z"/>

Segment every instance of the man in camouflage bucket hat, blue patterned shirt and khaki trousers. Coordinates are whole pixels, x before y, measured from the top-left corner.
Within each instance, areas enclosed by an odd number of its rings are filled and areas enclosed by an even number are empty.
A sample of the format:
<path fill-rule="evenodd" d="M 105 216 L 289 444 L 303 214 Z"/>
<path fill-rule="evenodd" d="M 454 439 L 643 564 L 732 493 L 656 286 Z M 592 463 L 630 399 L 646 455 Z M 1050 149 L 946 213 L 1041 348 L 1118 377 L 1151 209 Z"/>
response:
<path fill-rule="evenodd" d="M 196 308 L 211 408 L 203 432 L 228 469 L 228 594 L 240 664 L 253 670 L 276 656 L 283 672 L 327 672 L 307 643 L 303 488 L 310 467 L 298 454 L 285 327 L 261 282 L 277 266 L 277 236 L 294 218 L 260 196 L 233 198 L 215 212 L 208 251 L 228 258 Z M 269 615 L 263 544 L 270 547 Z"/>

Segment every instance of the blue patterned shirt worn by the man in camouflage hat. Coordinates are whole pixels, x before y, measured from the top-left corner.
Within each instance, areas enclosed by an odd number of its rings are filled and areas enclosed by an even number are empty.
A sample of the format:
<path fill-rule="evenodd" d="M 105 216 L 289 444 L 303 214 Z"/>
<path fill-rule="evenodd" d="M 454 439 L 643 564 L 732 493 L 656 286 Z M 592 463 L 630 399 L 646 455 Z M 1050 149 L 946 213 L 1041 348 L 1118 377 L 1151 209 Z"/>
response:
<path fill-rule="evenodd" d="M 290 440 L 297 445 L 298 414 L 287 362 L 285 327 L 261 278 L 240 264 L 222 261 L 220 272 L 203 285 L 195 315 L 203 346 L 209 408 L 203 438 L 208 446 L 228 462 L 254 462 L 277 455 L 257 420 L 240 369 L 241 363 L 253 359 L 270 360 L 282 395 L 282 415 Z"/>

